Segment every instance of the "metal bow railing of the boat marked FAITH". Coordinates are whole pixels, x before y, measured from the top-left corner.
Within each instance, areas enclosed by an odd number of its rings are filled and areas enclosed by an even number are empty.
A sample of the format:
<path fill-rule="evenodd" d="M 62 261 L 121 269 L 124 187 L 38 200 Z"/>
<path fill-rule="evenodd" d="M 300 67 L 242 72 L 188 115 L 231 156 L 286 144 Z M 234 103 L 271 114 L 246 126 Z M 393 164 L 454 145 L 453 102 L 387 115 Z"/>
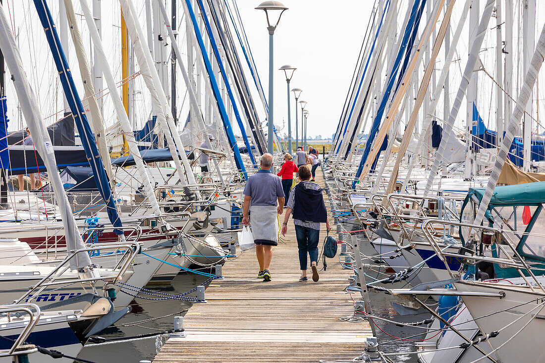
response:
<path fill-rule="evenodd" d="M 63 274 L 70 269 L 70 261 L 80 253 L 89 253 L 96 251 L 108 251 L 116 253 L 116 257 L 119 257 L 119 262 L 114 268 L 112 268 L 111 273 L 107 275 L 100 275 L 93 273 L 92 269 L 89 270 L 78 270 L 78 277 L 74 279 L 64 279 Z M 122 252 L 122 253 L 120 253 Z M 136 242 L 128 242 L 124 244 L 119 243 L 98 243 L 92 244 L 84 249 L 78 249 L 75 251 L 69 251 L 68 255 L 61 261 L 54 269 L 52 269 L 46 276 L 44 276 L 36 285 L 32 286 L 25 294 L 22 295 L 19 299 L 15 300 L 15 304 L 19 304 L 22 301 L 25 301 L 29 295 L 33 296 L 40 295 L 47 287 L 65 285 L 69 286 L 73 283 L 82 283 L 82 282 L 96 282 L 99 280 L 105 281 L 103 289 L 106 289 L 108 284 L 114 284 L 122 279 L 123 275 L 126 273 L 132 261 L 136 258 L 136 255 L 140 252 L 140 244 Z"/>

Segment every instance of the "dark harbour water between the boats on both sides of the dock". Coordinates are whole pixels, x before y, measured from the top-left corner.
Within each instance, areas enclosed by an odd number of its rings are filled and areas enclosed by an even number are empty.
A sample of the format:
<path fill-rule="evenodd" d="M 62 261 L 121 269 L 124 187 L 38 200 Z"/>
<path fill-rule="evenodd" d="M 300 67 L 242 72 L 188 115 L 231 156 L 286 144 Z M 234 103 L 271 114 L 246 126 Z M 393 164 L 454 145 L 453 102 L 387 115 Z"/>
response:
<path fill-rule="evenodd" d="M 226 268 L 228 268 L 228 266 Z M 171 285 L 163 287 L 150 287 L 150 289 L 169 294 L 181 294 L 201 284 L 206 279 L 206 277 L 199 275 L 178 275 L 174 278 Z M 394 285 L 393 287 L 402 286 L 403 285 Z M 192 296 L 194 297 L 195 295 Z M 354 293 L 353 297 L 354 299 L 361 300 L 359 293 Z M 379 317 L 404 323 L 417 322 L 429 317 L 426 314 L 404 317 L 399 316 L 391 305 L 392 297 L 384 293 L 370 293 L 370 298 L 372 301 L 373 314 Z M 138 334 L 147 334 L 150 332 L 173 329 L 174 316 L 185 315 L 185 312 L 180 312 L 184 311 L 186 308 L 190 308 L 191 303 L 179 300 L 150 301 L 136 298 L 135 301 L 132 302 L 131 306 L 131 313 L 119 320 L 116 326 L 103 330 L 100 333 L 100 336 L 105 338 L 128 337 Z M 153 320 L 142 321 L 147 319 Z M 377 324 L 380 329 L 383 329 L 388 334 L 399 338 L 409 337 L 423 331 L 423 329 L 399 327 L 381 321 L 377 321 Z M 419 336 L 411 339 L 418 340 L 422 338 L 423 336 Z M 379 343 L 389 342 L 392 340 L 394 340 L 392 337 L 386 335 L 384 332 L 378 331 Z M 144 359 L 153 360 L 156 354 L 155 342 L 155 338 L 150 338 L 141 341 L 121 342 L 106 346 L 86 346 L 83 348 L 78 358 L 87 359 L 97 363 L 112 361 L 115 361 L 116 363 L 135 363 Z M 398 341 L 382 346 L 381 350 L 386 353 L 406 353 L 414 352 L 416 348 L 414 342 Z M 391 358 L 395 362 L 413 363 L 418 361 L 415 354 L 403 354 Z"/>

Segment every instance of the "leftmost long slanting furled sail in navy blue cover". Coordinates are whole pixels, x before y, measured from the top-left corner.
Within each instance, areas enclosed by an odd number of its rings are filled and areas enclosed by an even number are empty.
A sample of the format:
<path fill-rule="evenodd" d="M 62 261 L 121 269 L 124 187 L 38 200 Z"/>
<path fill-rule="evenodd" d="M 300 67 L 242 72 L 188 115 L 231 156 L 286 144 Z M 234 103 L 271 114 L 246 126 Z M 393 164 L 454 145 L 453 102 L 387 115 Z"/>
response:
<path fill-rule="evenodd" d="M 51 16 L 51 11 L 49 10 L 49 7 L 47 7 L 46 0 L 34 0 L 34 5 L 38 12 L 41 25 L 44 27 L 47 43 L 49 43 L 55 65 L 57 66 L 57 71 L 59 72 L 64 95 L 66 96 L 66 100 L 68 100 L 68 104 L 70 105 L 70 111 L 74 115 L 77 131 L 80 134 L 83 149 L 85 150 L 89 164 L 93 170 L 96 185 L 99 186 L 100 195 L 106 204 L 108 218 L 110 219 L 112 225 L 116 227 L 114 232 L 117 234 L 123 234 L 122 229 L 119 229 L 123 227 L 123 225 L 121 223 L 121 219 L 119 218 L 119 214 L 117 213 L 116 204 L 113 200 L 112 191 L 110 189 L 110 183 L 108 182 L 106 171 L 104 170 L 104 164 L 102 164 L 102 159 L 100 157 L 98 147 L 96 146 L 93 131 L 91 130 L 89 122 L 87 121 L 87 116 L 83 110 L 83 105 L 81 104 L 80 95 L 77 93 L 74 79 L 72 78 L 72 73 L 68 66 L 68 62 L 66 61 L 66 57 L 64 56 L 62 46 L 60 45 L 60 39 L 53 22 L 53 17 Z"/>

